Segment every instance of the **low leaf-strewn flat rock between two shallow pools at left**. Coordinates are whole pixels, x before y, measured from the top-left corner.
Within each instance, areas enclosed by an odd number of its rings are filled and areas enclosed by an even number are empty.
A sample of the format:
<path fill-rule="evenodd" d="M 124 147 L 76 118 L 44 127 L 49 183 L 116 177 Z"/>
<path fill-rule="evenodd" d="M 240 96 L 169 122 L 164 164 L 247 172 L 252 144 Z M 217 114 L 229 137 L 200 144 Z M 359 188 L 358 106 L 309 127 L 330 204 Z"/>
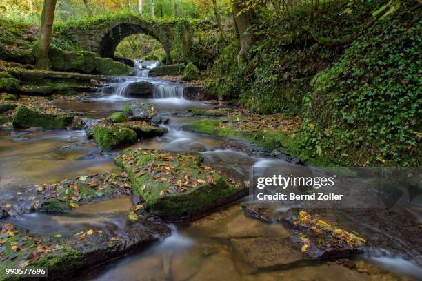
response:
<path fill-rule="evenodd" d="M 128 174 L 125 171 L 106 171 L 101 174 L 79 176 L 35 188 L 43 197 L 34 208 L 48 213 L 68 213 L 90 202 L 132 194 Z"/>

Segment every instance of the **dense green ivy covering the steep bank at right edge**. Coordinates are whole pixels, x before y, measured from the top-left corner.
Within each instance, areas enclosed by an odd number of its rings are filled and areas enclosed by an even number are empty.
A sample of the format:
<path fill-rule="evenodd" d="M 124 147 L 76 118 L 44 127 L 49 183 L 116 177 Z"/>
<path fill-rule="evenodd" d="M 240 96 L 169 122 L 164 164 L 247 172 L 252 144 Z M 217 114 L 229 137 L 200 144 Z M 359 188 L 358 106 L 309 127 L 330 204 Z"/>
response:
<path fill-rule="evenodd" d="M 421 22 L 406 6 L 316 76 L 303 125 L 313 154 L 319 148 L 346 165 L 420 165 Z"/>

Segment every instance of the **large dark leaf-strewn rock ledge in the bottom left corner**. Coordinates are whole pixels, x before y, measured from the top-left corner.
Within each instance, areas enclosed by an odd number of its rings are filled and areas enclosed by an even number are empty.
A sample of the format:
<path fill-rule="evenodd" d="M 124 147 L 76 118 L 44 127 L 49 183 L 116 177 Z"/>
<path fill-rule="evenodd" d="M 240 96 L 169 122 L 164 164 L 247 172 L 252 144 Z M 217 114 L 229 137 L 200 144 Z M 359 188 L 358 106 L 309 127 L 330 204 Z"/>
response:
<path fill-rule="evenodd" d="M 81 273 L 125 254 L 139 251 L 170 235 L 161 220 L 127 220 L 121 231 L 92 226 L 79 233 L 40 236 L 28 229 L 0 222 L 0 279 L 6 268 L 47 267 L 48 279 L 62 279 Z"/>

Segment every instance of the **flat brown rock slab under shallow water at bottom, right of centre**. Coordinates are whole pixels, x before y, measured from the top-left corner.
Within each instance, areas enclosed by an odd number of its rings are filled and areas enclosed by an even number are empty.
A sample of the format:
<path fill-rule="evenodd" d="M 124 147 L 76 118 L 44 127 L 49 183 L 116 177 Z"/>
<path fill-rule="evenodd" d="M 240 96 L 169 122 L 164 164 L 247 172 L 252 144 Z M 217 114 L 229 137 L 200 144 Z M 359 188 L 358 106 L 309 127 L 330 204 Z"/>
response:
<path fill-rule="evenodd" d="M 294 264 L 304 260 L 288 237 L 232 239 L 239 256 L 253 267 L 262 269 Z"/>

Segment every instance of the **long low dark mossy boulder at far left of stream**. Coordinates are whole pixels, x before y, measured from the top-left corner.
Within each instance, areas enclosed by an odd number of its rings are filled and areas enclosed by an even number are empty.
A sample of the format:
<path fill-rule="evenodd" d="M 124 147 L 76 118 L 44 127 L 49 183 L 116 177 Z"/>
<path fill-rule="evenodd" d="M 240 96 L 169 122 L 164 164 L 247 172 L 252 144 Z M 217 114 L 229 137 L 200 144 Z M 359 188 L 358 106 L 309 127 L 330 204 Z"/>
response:
<path fill-rule="evenodd" d="M 43 129 L 66 129 L 73 121 L 72 116 L 44 114 L 28 107 L 19 106 L 14 114 L 12 125 L 15 128 L 43 127 Z"/>

